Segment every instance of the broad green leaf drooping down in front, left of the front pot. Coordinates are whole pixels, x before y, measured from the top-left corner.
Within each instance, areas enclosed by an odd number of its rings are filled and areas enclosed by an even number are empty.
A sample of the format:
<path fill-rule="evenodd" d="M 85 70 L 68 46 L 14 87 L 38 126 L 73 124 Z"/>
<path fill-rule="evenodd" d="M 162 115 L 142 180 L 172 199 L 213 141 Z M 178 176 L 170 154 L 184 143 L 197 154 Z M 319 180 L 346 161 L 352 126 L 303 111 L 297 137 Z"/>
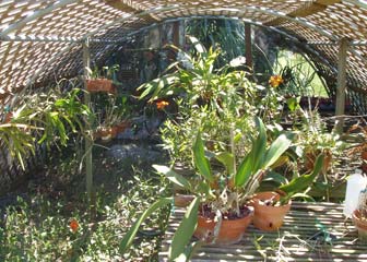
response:
<path fill-rule="evenodd" d="M 185 253 L 186 247 L 189 243 L 198 224 L 199 204 L 200 198 L 196 198 L 185 213 L 182 222 L 178 226 L 168 250 L 170 261 L 175 261 L 175 259 Z"/>

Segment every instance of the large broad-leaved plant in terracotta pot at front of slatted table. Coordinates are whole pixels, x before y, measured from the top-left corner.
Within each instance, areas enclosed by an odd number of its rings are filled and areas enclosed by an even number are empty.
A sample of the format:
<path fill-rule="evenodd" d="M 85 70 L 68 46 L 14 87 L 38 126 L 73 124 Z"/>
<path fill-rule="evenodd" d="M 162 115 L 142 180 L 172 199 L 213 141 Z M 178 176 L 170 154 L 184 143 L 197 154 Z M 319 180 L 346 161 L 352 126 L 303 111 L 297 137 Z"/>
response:
<path fill-rule="evenodd" d="M 196 179 L 189 181 L 166 166 L 153 167 L 165 175 L 175 184 L 190 191 L 196 198 L 189 205 L 186 215 L 175 233 L 169 255 L 177 259 L 187 251 L 187 243 L 192 236 L 199 241 L 215 243 L 233 243 L 241 239 L 246 227 L 252 219 L 252 207 L 248 205 L 253 192 L 258 188 L 263 174 L 289 147 L 291 140 L 286 134 L 277 136 L 267 146 L 267 131 L 261 119 L 254 118 L 258 135 L 252 139 L 252 146 L 246 156 L 236 165 L 234 153 L 220 152 L 211 154 L 211 160 L 216 160 L 221 167 L 213 169 L 205 155 L 204 142 L 199 132 L 192 147 L 196 167 Z M 232 135 L 230 135 L 232 136 Z M 232 140 L 233 141 L 233 140 Z M 232 148 L 234 146 L 232 145 Z M 164 204 L 157 202 L 154 207 Z M 138 224 L 122 240 L 122 250 L 131 243 L 139 225 L 146 214 L 138 219 Z"/>

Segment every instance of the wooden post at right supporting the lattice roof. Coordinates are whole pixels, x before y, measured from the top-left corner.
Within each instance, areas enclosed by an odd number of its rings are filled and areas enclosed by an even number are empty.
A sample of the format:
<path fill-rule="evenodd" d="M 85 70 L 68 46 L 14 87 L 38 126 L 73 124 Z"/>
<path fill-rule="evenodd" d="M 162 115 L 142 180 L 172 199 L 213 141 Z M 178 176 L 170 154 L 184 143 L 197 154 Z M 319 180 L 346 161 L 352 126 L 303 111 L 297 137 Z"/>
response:
<path fill-rule="evenodd" d="M 345 111 L 345 91 L 346 91 L 346 56 L 347 56 L 348 40 L 342 38 L 339 45 L 338 53 L 338 86 L 336 86 L 336 105 L 335 105 L 335 131 L 343 132 L 344 118 L 340 117 Z"/>

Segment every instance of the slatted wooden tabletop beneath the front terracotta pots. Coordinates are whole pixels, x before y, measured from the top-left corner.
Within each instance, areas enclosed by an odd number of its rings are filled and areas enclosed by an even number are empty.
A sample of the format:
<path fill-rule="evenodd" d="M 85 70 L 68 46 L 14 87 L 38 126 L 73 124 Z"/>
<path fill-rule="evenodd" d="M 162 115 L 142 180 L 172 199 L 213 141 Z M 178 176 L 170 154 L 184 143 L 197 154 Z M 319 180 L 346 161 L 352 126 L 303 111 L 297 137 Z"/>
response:
<path fill-rule="evenodd" d="M 159 261 L 168 261 L 171 237 L 185 209 L 176 209 L 163 240 Z M 331 241 L 325 241 L 330 234 Z M 327 239 L 328 240 L 328 239 Z M 202 246 L 191 261 L 367 261 L 367 243 L 345 222 L 343 206 L 294 202 L 280 231 L 264 233 L 252 225 L 232 246 Z"/>

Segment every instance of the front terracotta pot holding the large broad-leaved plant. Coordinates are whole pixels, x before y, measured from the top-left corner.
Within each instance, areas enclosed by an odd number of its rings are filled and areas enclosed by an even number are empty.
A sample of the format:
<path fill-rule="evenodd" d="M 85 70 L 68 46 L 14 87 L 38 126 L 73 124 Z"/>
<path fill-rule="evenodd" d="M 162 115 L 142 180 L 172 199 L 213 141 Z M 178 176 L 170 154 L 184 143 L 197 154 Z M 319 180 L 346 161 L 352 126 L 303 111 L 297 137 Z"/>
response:
<path fill-rule="evenodd" d="M 245 230 L 252 221 L 253 209 L 248 206 L 248 214 L 242 218 L 224 219 L 220 233 L 214 241 L 217 245 L 232 245 L 240 241 Z M 198 226 L 193 236 L 199 239 L 205 239 L 208 243 L 213 242 L 215 222 L 212 218 L 198 216 Z"/>

